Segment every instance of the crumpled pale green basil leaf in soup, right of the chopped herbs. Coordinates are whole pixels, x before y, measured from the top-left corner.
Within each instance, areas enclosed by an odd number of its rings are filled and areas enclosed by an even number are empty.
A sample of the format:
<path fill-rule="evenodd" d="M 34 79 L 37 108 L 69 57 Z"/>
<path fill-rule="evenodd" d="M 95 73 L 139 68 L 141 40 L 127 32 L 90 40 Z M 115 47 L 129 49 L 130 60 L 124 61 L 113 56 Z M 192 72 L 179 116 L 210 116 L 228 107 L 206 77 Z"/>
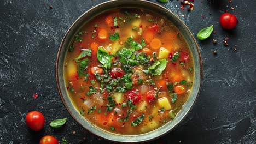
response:
<path fill-rule="evenodd" d="M 161 75 L 162 71 L 166 68 L 166 59 L 160 59 L 156 61 L 151 67 L 148 68 L 148 71 L 152 75 Z"/>

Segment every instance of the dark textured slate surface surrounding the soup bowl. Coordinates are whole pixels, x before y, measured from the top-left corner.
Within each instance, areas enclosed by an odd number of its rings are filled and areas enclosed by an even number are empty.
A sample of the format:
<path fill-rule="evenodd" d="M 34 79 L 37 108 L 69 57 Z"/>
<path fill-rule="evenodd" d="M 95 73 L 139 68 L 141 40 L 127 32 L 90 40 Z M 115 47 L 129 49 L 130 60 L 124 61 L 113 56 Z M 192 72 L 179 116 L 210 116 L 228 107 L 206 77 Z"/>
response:
<path fill-rule="evenodd" d="M 179 9 L 176 0 L 161 5 L 179 15 L 194 35 L 214 25 L 216 34 L 207 40 L 197 39 L 204 77 L 200 97 L 182 124 L 149 143 L 256 143 L 256 1 L 195 1 L 190 13 Z M 101 2 L 0 1 L 0 143 L 38 143 L 44 135 L 65 138 L 69 143 L 112 143 L 90 134 L 69 116 L 55 82 L 62 37 L 75 19 Z M 218 23 L 225 9 L 236 13 L 239 21 L 232 31 Z M 223 46 L 226 37 L 230 38 L 228 47 Z M 217 39 L 217 45 L 212 39 Z M 235 45 L 237 51 L 232 49 Z M 34 93 L 38 93 L 37 99 Z M 45 127 L 38 133 L 26 127 L 26 113 L 32 110 L 45 116 Z M 63 117 L 67 123 L 62 128 L 49 127 L 53 119 Z"/>

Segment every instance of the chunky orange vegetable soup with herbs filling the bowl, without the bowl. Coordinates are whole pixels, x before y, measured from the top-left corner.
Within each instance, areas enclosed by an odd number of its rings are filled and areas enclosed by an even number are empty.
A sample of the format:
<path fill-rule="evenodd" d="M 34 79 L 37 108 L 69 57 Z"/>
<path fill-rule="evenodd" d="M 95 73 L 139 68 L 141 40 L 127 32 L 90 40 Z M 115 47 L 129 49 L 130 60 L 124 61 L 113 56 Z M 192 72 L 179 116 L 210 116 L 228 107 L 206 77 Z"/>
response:
<path fill-rule="evenodd" d="M 189 97 L 193 57 L 183 35 L 162 16 L 143 9 L 107 11 L 87 22 L 70 46 L 64 68 L 69 97 L 97 127 L 147 133 L 172 121 Z"/>

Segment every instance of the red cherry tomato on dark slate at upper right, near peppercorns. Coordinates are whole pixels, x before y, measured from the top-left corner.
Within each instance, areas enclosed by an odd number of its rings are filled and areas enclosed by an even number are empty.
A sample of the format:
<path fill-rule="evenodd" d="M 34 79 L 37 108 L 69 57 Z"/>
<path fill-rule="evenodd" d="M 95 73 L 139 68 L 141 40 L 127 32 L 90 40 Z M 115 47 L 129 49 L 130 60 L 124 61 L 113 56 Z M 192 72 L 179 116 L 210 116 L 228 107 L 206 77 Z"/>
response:
<path fill-rule="evenodd" d="M 224 29 L 233 29 L 236 27 L 237 19 L 235 15 L 224 13 L 220 16 L 219 22 Z"/>

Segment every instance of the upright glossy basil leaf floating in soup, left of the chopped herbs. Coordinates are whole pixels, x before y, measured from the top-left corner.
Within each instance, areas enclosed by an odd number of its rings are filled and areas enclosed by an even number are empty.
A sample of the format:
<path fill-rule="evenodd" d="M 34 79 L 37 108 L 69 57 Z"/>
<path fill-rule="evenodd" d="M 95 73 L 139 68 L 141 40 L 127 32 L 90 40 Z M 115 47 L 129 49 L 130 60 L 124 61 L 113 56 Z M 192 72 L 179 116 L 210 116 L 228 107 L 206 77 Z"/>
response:
<path fill-rule="evenodd" d="M 98 58 L 98 61 L 100 61 L 100 63 L 103 64 L 104 68 L 106 68 L 106 69 L 110 69 L 111 68 L 111 57 L 103 49 L 103 47 L 99 47 L 98 48 L 97 58 Z"/>

